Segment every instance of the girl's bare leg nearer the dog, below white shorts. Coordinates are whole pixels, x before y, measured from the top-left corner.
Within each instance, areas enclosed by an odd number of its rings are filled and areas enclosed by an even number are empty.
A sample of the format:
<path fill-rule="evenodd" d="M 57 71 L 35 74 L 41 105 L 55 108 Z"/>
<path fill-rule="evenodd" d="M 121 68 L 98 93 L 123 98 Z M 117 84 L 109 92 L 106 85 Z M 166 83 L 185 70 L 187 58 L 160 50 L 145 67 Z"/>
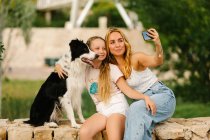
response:
<path fill-rule="evenodd" d="M 80 140 L 92 140 L 100 131 L 106 128 L 107 117 L 96 113 L 88 118 L 79 131 Z"/>

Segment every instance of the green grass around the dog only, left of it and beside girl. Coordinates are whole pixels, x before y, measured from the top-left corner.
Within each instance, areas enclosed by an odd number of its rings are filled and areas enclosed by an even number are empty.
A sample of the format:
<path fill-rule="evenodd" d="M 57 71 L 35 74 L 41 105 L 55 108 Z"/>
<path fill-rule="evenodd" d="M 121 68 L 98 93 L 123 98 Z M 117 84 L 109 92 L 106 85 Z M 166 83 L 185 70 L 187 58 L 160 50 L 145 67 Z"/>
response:
<path fill-rule="evenodd" d="M 3 80 L 2 117 L 10 120 L 28 118 L 31 104 L 44 81 Z M 94 104 L 86 93 L 82 94 L 83 115 L 89 117 L 95 112 Z"/>

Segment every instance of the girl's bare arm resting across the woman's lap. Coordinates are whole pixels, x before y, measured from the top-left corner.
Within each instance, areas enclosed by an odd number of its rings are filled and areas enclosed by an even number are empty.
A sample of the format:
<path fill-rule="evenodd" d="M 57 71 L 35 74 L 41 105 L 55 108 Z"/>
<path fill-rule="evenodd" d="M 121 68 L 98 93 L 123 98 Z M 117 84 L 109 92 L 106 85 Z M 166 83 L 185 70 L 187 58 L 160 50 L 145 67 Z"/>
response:
<path fill-rule="evenodd" d="M 128 86 L 128 84 L 126 83 L 125 79 L 123 77 L 120 77 L 117 82 L 116 82 L 117 86 L 119 87 L 119 89 L 125 94 L 127 95 L 129 98 L 131 99 L 143 99 L 145 100 L 146 103 L 146 107 L 148 110 L 151 110 L 152 115 L 155 115 L 156 113 L 156 105 L 155 103 L 150 99 L 149 96 L 146 96 L 134 89 L 132 89 L 130 86 Z"/>

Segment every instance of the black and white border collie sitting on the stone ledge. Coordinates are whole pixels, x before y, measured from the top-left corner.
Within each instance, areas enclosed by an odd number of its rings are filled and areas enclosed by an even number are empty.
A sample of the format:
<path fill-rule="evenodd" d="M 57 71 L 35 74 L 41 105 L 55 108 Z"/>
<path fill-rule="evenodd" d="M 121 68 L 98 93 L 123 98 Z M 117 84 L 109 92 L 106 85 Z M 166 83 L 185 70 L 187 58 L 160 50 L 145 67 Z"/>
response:
<path fill-rule="evenodd" d="M 30 110 L 30 119 L 25 123 L 41 126 L 45 123 L 50 127 L 58 127 L 62 110 L 71 121 L 71 126 L 79 128 L 74 117 L 77 112 L 80 121 L 85 121 L 81 110 L 81 93 L 85 87 L 85 69 L 91 60 L 98 55 L 88 48 L 82 41 L 76 39 L 69 43 L 70 51 L 66 60 L 68 77 L 59 78 L 52 72 L 41 86 Z M 64 68 L 65 69 L 65 68 Z"/>

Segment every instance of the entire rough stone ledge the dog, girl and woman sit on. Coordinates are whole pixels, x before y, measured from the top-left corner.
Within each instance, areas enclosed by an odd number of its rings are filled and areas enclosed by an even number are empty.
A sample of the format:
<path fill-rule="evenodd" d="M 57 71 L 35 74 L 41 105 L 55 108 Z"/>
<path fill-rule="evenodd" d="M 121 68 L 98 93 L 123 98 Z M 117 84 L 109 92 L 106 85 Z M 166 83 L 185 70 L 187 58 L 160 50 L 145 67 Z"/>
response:
<path fill-rule="evenodd" d="M 24 124 L 27 119 L 0 119 L 0 140 L 79 140 L 78 129 L 71 128 L 63 120 L 59 128 L 32 127 Z M 210 140 L 210 117 L 171 118 L 155 127 L 153 140 Z M 98 133 L 94 140 L 108 140 L 106 131 Z"/>

